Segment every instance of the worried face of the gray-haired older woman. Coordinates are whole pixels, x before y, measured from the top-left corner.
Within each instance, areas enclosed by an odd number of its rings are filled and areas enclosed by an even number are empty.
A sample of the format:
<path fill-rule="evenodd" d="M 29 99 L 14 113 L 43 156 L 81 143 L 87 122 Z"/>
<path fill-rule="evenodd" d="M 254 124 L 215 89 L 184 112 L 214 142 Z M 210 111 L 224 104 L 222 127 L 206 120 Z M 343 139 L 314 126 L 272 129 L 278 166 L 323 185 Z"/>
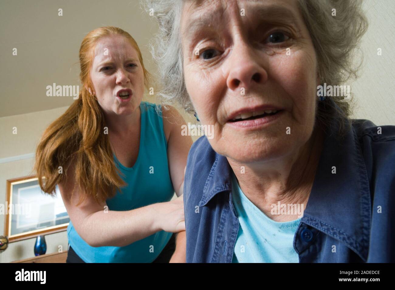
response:
<path fill-rule="evenodd" d="M 186 2 L 181 34 L 186 89 L 216 152 L 252 162 L 307 142 L 319 78 L 296 0 Z"/>

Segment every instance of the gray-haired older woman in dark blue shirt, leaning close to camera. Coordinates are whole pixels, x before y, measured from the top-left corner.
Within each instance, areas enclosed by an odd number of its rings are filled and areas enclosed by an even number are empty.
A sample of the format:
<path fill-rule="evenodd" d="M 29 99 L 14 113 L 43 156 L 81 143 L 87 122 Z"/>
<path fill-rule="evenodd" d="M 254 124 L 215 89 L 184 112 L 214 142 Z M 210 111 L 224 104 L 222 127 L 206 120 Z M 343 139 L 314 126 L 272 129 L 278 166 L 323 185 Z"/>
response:
<path fill-rule="evenodd" d="M 162 95 L 214 129 L 188 155 L 186 262 L 395 262 L 395 127 L 319 92 L 356 77 L 360 2 L 146 7 Z"/>

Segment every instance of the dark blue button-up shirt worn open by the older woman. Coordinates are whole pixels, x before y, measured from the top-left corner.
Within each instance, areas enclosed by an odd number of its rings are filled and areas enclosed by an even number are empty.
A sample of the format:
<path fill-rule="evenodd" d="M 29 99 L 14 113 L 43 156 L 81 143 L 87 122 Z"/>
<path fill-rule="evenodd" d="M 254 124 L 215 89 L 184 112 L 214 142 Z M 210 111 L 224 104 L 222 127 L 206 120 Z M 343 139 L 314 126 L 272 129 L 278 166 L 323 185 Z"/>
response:
<path fill-rule="evenodd" d="M 325 136 L 293 239 L 299 262 L 395 262 L 395 126 L 350 122 L 344 138 L 333 133 L 338 125 Z M 186 262 L 232 261 L 239 220 L 231 170 L 207 137 L 192 145 L 184 180 Z"/>

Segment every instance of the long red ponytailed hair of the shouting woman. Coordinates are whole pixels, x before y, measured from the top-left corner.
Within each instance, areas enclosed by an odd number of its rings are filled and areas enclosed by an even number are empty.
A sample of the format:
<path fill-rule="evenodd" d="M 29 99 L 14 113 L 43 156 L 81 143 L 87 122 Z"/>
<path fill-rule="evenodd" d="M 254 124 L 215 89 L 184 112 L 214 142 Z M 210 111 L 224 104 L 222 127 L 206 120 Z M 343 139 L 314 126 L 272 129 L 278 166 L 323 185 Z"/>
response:
<path fill-rule="evenodd" d="M 103 202 L 115 195 L 125 183 L 115 166 L 107 134 L 103 134 L 105 118 L 90 80 L 94 48 L 99 39 L 111 35 L 126 37 L 136 50 L 144 72 L 144 85 L 148 89 L 150 75 L 145 69 L 141 51 L 128 32 L 113 26 L 92 30 L 84 37 L 79 49 L 80 80 L 83 84 L 79 98 L 44 131 L 37 146 L 34 170 L 43 192 L 55 195 L 55 187 L 67 178 L 67 168 L 73 162 L 75 190 L 81 191 L 78 204 L 85 196 Z M 60 173 L 62 167 L 63 173 Z"/>

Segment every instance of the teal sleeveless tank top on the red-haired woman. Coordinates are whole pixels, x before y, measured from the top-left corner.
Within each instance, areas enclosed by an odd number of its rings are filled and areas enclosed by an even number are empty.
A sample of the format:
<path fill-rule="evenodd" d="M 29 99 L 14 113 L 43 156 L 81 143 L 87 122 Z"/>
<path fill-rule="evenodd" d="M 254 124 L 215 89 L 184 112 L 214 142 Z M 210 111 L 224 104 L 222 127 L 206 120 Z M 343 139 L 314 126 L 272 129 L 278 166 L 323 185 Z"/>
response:
<path fill-rule="evenodd" d="M 141 102 L 140 147 L 133 167 L 124 167 L 115 157 L 117 168 L 127 183 L 117 194 L 107 199 L 109 210 L 128 211 L 157 202 L 167 202 L 174 195 L 169 165 L 167 141 L 163 131 L 162 113 L 155 104 Z M 173 233 L 160 231 L 124 247 L 91 247 L 69 223 L 67 235 L 75 253 L 87 263 L 153 262 Z"/>

